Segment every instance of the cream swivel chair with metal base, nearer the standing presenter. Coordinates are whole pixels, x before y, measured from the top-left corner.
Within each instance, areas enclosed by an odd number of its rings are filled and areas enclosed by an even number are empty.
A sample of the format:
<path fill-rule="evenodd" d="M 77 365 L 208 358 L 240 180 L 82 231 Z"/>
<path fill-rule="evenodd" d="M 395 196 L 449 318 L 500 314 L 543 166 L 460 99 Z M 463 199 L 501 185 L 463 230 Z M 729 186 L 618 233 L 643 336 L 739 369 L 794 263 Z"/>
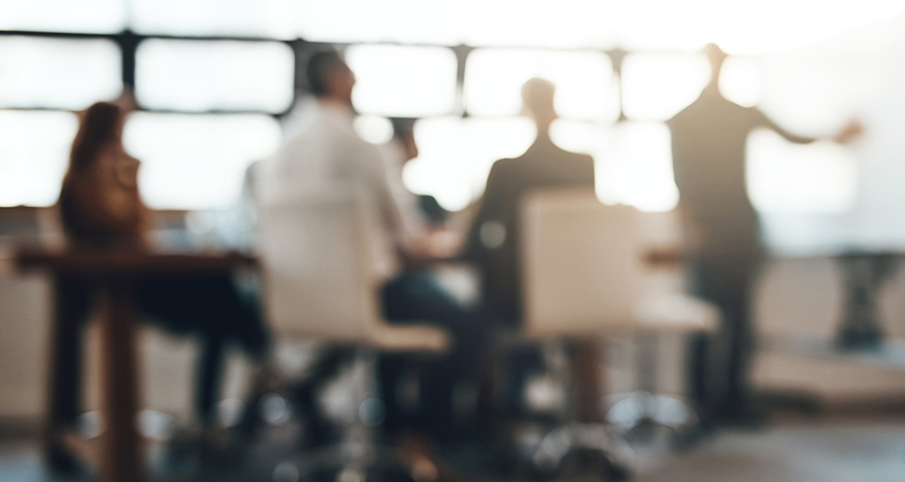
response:
<path fill-rule="evenodd" d="M 706 303 L 645 286 L 643 214 L 634 208 L 604 205 L 584 189 L 529 194 L 521 208 L 522 336 L 545 346 L 548 365 L 564 365 L 556 362 L 563 353 L 557 346 L 569 339 L 715 325 L 716 311 Z M 556 371 L 570 393 L 569 371 Z M 631 450 L 613 426 L 576 422 L 574 406 L 562 415 L 534 449 L 538 467 L 557 468 L 573 449 L 598 449 L 614 469 L 610 477 L 628 476 Z"/>

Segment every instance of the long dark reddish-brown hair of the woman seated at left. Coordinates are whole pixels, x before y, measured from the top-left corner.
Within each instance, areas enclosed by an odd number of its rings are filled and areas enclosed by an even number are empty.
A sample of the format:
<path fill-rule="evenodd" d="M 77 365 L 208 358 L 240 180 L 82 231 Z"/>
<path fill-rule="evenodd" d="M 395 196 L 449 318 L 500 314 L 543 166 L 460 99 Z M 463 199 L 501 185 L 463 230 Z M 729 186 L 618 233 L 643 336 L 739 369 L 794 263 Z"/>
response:
<path fill-rule="evenodd" d="M 97 102 L 85 111 L 72 142 L 70 172 L 82 172 L 94 165 L 100 149 L 119 135 L 121 115 L 119 106 L 110 102 Z"/>

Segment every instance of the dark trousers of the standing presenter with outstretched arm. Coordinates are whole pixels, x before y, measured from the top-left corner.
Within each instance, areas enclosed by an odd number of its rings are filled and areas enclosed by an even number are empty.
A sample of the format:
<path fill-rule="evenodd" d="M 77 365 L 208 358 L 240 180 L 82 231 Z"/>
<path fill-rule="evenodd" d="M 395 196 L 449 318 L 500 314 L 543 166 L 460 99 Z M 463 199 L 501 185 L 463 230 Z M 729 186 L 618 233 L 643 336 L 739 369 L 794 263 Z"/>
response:
<path fill-rule="evenodd" d="M 704 253 L 691 263 L 695 294 L 719 307 L 714 335 L 694 336 L 689 354 L 691 399 L 705 421 L 737 419 L 751 409 L 748 368 L 754 353 L 751 293 L 760 265 L 756 245 Z"/>

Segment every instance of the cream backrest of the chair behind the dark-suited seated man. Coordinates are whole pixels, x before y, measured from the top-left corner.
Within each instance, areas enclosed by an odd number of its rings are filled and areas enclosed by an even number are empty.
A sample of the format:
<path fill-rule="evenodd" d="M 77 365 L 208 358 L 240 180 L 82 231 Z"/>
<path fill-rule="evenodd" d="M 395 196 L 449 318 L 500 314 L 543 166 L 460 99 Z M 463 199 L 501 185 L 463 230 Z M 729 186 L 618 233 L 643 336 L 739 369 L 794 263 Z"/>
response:
<path fill-rule="evenodd" d="M 641 298 L 638 212 L 606 206 L 592 190 L 522 200 L 522 289 L 528 336 L 633 326 Z"/>

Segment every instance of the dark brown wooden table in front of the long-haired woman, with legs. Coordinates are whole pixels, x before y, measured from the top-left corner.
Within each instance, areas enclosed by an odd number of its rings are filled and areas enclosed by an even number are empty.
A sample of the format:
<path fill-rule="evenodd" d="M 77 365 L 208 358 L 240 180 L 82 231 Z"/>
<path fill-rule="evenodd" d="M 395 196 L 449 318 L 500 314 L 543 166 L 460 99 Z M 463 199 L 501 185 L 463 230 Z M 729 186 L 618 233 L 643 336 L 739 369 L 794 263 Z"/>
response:
<path fill-rule="evenodd" d="M 135 482 L 145 475 L 137 428 L 138 365 L 136 360 L 134 283 L 147 275 L 173 277 L 229 272 L 249 266 L 254 259 L 234 252 L 164 253 L 154 251 L 87 251 L 22 249 L 15 254 L 20 269 L 45 269 L 55 280 L 84 279 L 100 289 L 102 311 L 102 413 L 106 432 L 101 440 L 100 473 L 104 482 Z M 78 333 L 71 329 L 73 320 L 66 317 L 64 303 L 56 295 L 50 380 L 48 424 L 59 419 L 63 392 L 72 381 L 64 373 L 78 367 L 61 366 L 59 348 L 66 345 L 62 334 Z M 67 330 L 67 328 L 70 328 Z M 71 342 L 71 340 L 70 340 Z M 78 380 L 78 377 L 72 377 Z M 69 384 L 69 385 L 68 385 Z M 51 427 L 52 429 L 54 427 Z M 48 430 L 52 436 L 52 430 Z"/>

